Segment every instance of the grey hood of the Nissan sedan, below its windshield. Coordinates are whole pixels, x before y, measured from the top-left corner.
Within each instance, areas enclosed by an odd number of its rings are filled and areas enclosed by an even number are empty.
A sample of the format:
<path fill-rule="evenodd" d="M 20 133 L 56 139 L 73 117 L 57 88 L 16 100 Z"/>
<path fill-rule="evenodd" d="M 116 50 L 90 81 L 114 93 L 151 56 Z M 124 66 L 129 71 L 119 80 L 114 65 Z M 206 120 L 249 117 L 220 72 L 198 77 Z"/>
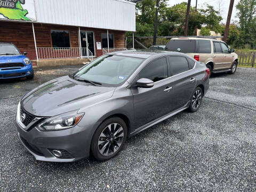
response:
<path fill-rule="evenodd" d="M 30 91 L 21 107 L 35 116 L 55 116 L 112 97 L 115 87 L 76 82 L 68 76 L 53 79 Z"/>

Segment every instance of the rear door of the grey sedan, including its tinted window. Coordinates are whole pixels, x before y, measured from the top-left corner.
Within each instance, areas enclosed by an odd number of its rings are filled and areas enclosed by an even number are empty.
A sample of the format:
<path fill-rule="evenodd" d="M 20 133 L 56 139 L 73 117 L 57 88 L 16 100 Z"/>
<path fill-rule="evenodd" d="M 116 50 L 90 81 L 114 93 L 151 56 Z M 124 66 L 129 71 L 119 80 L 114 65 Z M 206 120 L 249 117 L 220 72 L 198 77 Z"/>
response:
<path fill-rule="evenodd" d="M 168 59 L 172 79 L 172 97 L 169 100 L 169 105 L 173 107 L 172 110 L 175 110 L 185 106 L 190 100 L 196 85 L 193 71 L 196 64 L 194 60 L 181 56 L 170 56 Z"/>

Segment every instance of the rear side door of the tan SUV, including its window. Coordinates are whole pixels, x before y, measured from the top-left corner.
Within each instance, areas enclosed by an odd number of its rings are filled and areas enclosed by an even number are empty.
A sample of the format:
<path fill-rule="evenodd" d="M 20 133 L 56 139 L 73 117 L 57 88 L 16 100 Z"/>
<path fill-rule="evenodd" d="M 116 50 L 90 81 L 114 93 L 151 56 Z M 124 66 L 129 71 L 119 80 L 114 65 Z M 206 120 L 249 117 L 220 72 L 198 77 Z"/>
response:
<path fill-rule="evenodd" d="M 220 42 L 213 41 L 213 69 L 223 68 L 224 55 L 221 50 Z"/>

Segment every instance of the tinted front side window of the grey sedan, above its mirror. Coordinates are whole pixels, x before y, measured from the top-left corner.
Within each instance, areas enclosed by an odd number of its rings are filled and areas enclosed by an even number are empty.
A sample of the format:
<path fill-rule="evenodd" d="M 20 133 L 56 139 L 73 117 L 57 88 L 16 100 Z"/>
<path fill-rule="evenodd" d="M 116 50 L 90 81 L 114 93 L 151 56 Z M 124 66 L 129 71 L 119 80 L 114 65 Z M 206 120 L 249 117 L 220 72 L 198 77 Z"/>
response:
<path fill-rule="evenodd" d="M 142 69 L 139 74 L 140 78 L 148 78 L 154 82 L 167 77 L 167 62 L 166 58 L 156 59 L 150 62 Z"/>

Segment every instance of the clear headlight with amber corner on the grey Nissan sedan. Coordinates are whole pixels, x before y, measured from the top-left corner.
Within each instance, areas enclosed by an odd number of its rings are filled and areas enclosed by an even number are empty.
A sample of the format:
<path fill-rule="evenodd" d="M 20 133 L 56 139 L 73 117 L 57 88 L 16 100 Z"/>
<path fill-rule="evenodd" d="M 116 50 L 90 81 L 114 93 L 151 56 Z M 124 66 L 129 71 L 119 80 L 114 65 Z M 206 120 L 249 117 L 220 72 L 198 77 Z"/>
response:
<path fill-rule="evenodd" d="M 65 114 L 57 115 L 45 119 L 42 123 L 37 125 L 37 128 L 41 131 L 57 131 L 69 129 L 75 126 L 83 117 L 84 113 L 77 113 L 77 111 L 71 111 Z"/>

